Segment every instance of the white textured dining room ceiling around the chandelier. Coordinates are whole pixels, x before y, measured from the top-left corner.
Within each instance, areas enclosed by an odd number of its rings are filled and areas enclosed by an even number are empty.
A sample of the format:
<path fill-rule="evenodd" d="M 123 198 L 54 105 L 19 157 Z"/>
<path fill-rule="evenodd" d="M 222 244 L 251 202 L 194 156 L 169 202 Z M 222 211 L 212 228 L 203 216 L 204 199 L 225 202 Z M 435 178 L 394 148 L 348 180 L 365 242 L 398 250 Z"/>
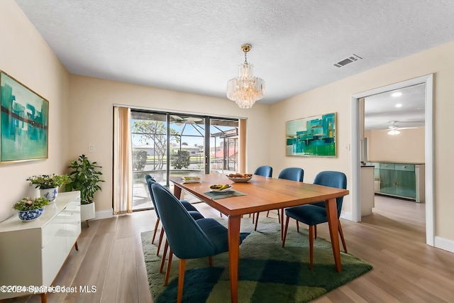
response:
<path fill-rule="evenodd" d="M 249 43 L 263 104 L 454 40 L 453 0 L 16 3 L 76 75 L 226 97 Z"/>

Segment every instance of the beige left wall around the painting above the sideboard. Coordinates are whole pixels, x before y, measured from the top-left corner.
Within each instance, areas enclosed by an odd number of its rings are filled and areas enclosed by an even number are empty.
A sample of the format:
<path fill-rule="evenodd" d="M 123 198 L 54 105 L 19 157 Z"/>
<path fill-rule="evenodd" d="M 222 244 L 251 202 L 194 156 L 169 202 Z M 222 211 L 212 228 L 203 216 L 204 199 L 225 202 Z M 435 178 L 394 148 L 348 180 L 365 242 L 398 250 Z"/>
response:
<path fill-rule="evenodd" d="M 69 74 L 12 0 L 0 1 L 0 70 L 49 101 L 49 158 L 0 165 L 0 221 L 13 214 L 16 200 L 38 195 L 26 179 L 61 174 L 69 165 Z"/>

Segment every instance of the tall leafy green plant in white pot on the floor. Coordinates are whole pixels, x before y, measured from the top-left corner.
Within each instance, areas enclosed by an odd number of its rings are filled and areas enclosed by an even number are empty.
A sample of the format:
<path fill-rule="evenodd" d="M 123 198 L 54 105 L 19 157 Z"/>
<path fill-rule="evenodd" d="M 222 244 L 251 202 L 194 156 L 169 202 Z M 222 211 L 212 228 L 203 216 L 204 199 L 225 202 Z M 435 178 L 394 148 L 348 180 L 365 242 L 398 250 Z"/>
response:
<path fill-rule="evenodd" d="M 71 162 L 69 168 L 72 171 L 69 173 L 70 180 L 65 185 L 66 191 L 79 190 L 81 200 L 81 220 L 87 222 L 95 217 L 94 194 L 101 190 L 99 186 L 102 172 L 99 171 L 101 166 L 96 162 L 91 162 L 85 155 L 80 155 L 79 158 Z"/>

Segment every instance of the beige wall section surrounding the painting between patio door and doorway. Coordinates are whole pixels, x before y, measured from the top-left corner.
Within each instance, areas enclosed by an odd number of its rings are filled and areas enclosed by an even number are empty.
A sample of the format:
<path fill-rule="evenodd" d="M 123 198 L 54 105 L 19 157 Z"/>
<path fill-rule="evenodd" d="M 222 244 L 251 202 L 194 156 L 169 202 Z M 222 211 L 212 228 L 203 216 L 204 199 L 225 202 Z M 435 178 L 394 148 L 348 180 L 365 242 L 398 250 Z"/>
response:
<path fill-rule="evenodd" d="M 334 83 L 331 89 L 321 87 L 296 97 L 273 104 L 271 107 L 273 127 L 270 129 L 269 148 L 270 165 L 274 175 L 285 167 L 304 169 L 304 182 L 313 182 L 314 177 L 322 170 L 345 172 L 350 180 L 350 100 L 338 96 L 341 84 Z M 336 158 L 314 158 L 285 155 L 285 122 L 336 112 Z M 348 184 L 350 187 L 350 184 Z M 343 211 L 350 211 L 350 196 L 345 196 Z"/>

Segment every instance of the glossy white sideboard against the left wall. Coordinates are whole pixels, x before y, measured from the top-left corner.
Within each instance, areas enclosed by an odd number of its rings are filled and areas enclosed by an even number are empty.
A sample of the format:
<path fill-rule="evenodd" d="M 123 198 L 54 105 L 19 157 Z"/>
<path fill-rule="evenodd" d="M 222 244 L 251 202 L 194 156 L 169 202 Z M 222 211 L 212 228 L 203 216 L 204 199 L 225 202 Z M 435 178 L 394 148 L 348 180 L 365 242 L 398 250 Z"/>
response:
<path fill-rule="evenodd" d="M 12 205 L 12 204 L 11 204 Z M 0 223 L 0 286 L 50 286 L 77 244 L 80 192 L 61 192 L 35 221 L 15 214 Z M 76 246 L 77 247 L 77 246 Z M 0 299 L 28 292 L 0 292 Z M 45 294 L 41 297 L 45 302 Z"/>

